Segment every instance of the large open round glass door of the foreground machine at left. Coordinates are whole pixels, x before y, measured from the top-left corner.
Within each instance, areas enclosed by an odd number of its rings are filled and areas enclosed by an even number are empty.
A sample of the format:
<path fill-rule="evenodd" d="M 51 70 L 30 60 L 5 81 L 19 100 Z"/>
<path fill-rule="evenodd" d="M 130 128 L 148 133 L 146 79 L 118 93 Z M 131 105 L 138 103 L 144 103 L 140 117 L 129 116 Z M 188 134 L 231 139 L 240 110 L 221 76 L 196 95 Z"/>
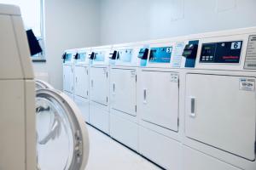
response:
<path fill-rule="evenodd" d="M 36 92 L 38 169 L 84 170 L 89 138 L 77 106 L 55 89 Z"/>

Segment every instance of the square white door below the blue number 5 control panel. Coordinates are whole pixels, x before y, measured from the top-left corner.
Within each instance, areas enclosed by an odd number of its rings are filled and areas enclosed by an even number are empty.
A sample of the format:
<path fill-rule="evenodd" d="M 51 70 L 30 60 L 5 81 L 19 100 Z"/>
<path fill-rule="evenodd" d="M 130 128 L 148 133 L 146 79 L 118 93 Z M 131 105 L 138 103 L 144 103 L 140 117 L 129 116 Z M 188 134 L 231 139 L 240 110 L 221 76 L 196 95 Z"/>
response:
<path fill-rule="evenodd" d="M 142 71 L 142 118 L 177 132 L 178 75 L 167 71 Z"/>

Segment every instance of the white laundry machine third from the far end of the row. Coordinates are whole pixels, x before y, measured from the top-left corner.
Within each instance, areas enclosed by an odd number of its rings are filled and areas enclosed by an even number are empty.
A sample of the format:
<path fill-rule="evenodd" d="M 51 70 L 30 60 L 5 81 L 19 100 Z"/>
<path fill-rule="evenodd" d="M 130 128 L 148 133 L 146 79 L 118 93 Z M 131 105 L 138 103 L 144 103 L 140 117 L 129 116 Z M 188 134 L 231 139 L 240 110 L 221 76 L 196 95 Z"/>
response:
<path fill-rule="evenodd" d="M 90 124 L 109 134 L 109 54 L 111 47 L 91 48 Z"/>

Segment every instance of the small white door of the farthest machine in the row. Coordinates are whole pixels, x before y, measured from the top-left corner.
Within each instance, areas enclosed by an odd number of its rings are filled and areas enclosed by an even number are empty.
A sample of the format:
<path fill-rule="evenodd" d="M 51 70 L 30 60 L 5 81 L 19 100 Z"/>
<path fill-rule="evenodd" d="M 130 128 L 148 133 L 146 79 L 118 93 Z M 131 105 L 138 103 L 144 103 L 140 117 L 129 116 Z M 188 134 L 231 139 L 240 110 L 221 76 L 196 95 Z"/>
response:
<path fill-rule="evenodd" d="M 73 67 L 63 65 L 63 90 L 73 93 Z"/>

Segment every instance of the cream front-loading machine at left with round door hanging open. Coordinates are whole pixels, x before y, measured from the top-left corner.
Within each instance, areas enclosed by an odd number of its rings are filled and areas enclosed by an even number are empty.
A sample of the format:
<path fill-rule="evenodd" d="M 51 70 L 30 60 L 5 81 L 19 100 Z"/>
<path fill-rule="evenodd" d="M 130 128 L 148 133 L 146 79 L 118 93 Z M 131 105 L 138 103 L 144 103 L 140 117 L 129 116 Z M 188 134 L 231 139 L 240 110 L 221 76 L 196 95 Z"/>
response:
<path fill-rule="evenodd" d="M 20 8 L 0 4 L 0 23 L 0 169 L 84 170 L 89 139 L 78 108 L 54 89 L 35 95 Z"/>

